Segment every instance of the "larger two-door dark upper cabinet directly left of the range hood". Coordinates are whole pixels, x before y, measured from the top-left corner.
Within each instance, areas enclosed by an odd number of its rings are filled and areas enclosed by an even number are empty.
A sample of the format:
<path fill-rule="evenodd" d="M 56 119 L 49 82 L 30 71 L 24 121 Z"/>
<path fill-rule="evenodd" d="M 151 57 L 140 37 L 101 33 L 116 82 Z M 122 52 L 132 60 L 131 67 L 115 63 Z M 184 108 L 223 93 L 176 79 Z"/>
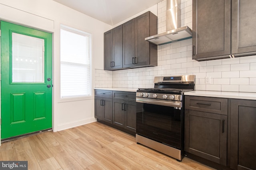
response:
<path fill-rule="evenodd" d="M 145 41 L 157 34 L 157 16 L 148 11 L 123 24 L 123 67 L 157 66 L 157 46 Z"/>

